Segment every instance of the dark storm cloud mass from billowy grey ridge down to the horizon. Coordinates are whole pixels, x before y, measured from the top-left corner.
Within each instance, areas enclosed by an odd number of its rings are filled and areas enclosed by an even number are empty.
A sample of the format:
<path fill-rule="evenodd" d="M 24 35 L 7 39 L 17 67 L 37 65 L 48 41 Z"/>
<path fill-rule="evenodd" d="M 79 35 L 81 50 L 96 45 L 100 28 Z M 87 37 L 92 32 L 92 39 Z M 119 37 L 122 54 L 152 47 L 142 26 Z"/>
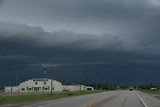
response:
<path fill-rule="evenodd" d="M 54 78 L 67 82 L 81 81 L 84 73 L 88 82 L 94 82 L 94 77 L 100 82 L 105 78 L 105 81 L 127 84 L 159 81 L 154 79 L 159 74 L 159 54 L 141 54 L 144 49 L 140 51 L 139 46 L 109 34 L 50 33 L 40 27 L 0 22 L 1 86 L 9 85 L 10 76 L 18 78 L 18 82 L 44 77 L 41 65 L 47 66 L 49 78 L 52 74 L 50 66 L 56 66 Z M 132 77 L 129 76 L 131 73 Z"/>

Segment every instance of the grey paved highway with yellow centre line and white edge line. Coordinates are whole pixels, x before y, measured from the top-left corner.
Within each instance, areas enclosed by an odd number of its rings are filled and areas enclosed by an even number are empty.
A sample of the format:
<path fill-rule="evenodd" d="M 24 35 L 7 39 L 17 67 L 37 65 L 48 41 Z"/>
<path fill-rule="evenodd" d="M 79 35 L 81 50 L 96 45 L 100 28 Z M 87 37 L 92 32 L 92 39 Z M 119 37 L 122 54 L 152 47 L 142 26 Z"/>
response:
<path fill-rule="evenodd" d="M 107 91 L 22 107 L 160 107 L 160 100 L 137 91 Z"/>

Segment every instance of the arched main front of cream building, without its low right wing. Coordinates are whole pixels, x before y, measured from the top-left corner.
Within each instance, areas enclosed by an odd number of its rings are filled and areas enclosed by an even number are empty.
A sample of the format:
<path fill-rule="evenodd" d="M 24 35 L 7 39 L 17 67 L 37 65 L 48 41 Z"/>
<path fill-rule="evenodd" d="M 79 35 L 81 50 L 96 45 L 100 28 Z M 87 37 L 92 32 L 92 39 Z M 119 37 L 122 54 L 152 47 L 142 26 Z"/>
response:
<path fill-rule="evenodd" d="M 62 83 L 47 78 L 32 79 L 12 87 L 12 92 L 50 92 L 52 82 L 52 91 L 62 91 Z M 11 87 L 5 87 L 5 92 L 11 92 Z"/>

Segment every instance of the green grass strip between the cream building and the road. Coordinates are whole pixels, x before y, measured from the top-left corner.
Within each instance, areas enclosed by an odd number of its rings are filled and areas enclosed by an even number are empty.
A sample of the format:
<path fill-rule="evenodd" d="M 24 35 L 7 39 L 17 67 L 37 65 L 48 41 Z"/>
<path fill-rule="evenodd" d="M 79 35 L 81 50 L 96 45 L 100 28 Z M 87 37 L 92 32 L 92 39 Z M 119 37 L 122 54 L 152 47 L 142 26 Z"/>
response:
<path fill-rule="evenodd" d="M 29 101 L 40 101 L 40 100 L 54 100 L 71 96 L 80 96 L 86 94 L 96 93 L 97 91 L 79 91 L 79 92 L 62 92 L 51 94 L 28 94 L 28 95 L 18 95 L 18 96 L 5 96 L 0 97 L 1 104 L 12 104 L 12 103 L 23 103 Z"/>

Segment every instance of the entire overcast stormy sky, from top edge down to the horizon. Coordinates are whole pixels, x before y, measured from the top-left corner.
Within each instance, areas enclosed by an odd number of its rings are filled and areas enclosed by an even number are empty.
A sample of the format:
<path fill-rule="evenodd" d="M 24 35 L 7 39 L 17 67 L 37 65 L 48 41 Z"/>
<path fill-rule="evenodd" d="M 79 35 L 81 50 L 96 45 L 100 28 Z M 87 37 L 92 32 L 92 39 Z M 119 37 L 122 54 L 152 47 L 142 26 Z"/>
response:
<path fill-rule="evenodd" d="M 1 0 L 0 83 L 43 64 L 61 81 L 160 82 L 159 29 L 159 0 Z"/>

